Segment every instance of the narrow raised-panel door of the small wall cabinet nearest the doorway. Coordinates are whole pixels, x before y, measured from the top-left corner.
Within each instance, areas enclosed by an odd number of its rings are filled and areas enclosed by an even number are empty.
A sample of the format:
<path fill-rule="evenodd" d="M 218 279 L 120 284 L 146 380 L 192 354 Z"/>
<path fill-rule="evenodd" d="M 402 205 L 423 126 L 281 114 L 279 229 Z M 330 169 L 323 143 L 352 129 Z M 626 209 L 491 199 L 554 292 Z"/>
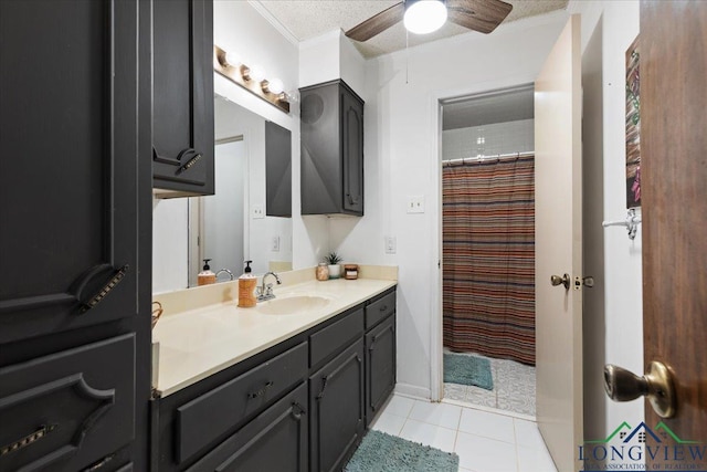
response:
<path fill-rule="evenodd" d="M 363 103 L 341 87 L 344 210 L 363 216 Z"/>

